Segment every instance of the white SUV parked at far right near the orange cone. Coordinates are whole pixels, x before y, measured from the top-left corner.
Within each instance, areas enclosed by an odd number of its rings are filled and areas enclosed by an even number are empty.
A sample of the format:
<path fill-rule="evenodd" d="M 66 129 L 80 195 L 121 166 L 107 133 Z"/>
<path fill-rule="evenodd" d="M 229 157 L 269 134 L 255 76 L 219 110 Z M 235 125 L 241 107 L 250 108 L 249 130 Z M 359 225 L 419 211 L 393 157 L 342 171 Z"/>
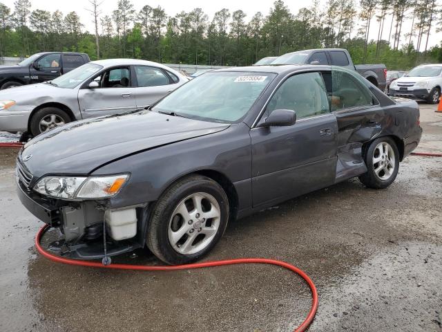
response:
<path fill-rule="evenodd" d="M 442 64 L 423 64 L 393 81 L 389 95 L 436 104 L 439 102 L 441 87 Z"/>

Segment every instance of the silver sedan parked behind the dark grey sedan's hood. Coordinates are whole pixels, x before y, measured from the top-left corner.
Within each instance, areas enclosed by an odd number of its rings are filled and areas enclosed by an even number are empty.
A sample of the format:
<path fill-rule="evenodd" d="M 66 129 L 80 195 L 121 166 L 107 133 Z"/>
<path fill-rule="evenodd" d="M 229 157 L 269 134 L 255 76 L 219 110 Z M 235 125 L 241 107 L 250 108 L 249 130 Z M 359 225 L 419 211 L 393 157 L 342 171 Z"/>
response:
<path fill-rule="evenodd" d="M 189 79 L 136 59 L 84 64 L 55 80 L 0 91 L 0 131 L 32 136 L 67 122 L 147 107 Z"/>

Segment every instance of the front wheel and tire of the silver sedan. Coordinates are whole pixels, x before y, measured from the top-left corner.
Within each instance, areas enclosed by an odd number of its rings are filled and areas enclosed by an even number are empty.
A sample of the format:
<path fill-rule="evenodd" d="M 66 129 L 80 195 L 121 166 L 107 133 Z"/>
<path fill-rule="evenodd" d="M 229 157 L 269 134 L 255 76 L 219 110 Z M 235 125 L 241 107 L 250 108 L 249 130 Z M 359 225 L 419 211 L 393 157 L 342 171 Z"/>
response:
<path fill-rule="evenodd" d="M 70 116 L 66 111 L 57 109 L 57 107 L 44 107 L 35 112 L 30 119 L 30 132 L 35 137 L 68 122 L 70 122 Z"/>

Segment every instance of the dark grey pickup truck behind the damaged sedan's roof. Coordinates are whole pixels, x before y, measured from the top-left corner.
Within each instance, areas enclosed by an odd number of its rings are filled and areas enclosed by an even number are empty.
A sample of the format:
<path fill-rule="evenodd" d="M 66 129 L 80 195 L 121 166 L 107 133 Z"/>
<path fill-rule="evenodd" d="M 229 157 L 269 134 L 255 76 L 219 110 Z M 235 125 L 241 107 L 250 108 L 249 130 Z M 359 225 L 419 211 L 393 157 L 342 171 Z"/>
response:
<path fill-rule="evenodd" d="M 352 69 L 382 91 L 385 89 L 387 68 L 385 64 L 356 64 L 345 48 L 316 48 L 313 50 L 298 50 L 297 52 L 281 55 L 271 64 L 328 64 Z"/>

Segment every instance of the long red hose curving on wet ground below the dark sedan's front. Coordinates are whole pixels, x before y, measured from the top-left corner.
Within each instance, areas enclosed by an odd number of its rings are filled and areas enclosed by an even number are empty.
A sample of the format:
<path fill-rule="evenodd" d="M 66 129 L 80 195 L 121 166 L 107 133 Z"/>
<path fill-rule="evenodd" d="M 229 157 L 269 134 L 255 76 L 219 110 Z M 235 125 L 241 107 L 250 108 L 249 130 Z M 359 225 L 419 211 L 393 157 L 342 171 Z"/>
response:
<path fill-rule="evenodd" d="M 111 264 L 104 266 L 101 263 L 97 263 L 95 261 L 79 261 L 76 259 L 67 259 L 63 257 L 59 257 L 56 255 L 52 255 L 46 250 L 44 250 L 40 245 L 41 237 L 44 232 L 49 228 L 49 225 L 44 225 L 40 228 L 39 232 L 37 232 L 37 236 L 35 237 L 35 247 L 37 251 L 50 259 L 51 261 L 55 261 L 57 263 L 70 264 L 76 266 L 88 266 L 92 268 L 114 268 L 117 270 L 144 270 L 144 271 L 174 271 L 174 270 L 188 270 L 191 268 L 209 268 L 211 266 L 226 266 L 226 265 L 235 265 L 235 264 L 273 264 L 276 266 L 281 266 L 282 268 L 287 268 L 287 270 L 291 270 L 296 273 L 302 279 L 307 282 L 311 290 L 311 297 L 313 297 L 311 301 L 311 309 L 307 318 L 305 318 L 304 322 L 300 324 L 294 331 L 302 332 L 307 329 L 307 327 L 313 321 L 316 310 L 318 310 L 318 292 L 316 291 L 316 286 L 311 281 L 308 275 L 306 275 L 302 270 L 293 266 L 291 264 L 285 263 L 285 261 L 276 261 L 274 259 L 265 259 L 265 258 L 241 258 L 241 259 L 227 259 L 224 261 L 206 261 L 204 263 L 195 263 L 195 264 L 186 264 L 186 265 L 175 265 L 175 266 L 143 266 L 143 265 L 131 265 L 131 264 Z"/>

